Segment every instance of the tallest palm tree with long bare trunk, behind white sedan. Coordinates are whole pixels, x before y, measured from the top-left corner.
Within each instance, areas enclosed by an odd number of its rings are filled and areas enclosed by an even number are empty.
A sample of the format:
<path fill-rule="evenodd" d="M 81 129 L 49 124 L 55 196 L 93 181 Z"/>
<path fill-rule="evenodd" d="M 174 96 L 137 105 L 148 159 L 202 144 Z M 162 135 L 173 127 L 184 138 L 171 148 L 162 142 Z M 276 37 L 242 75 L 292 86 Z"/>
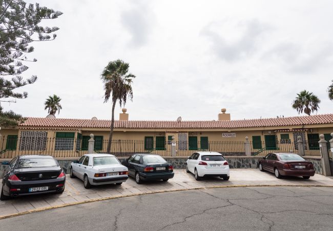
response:
<path fill-rule="evenodd" d="M 122 60 L 109 62 L 101 74 L 101 80 L 104 84 L 104 103 L 112 100 L 112 117 L 110 126 L 109 143 L 107 153 L 110 153 L 113 128 L 114 128 L 114 108 L 117 100 L 120 107 L 126 104 L 127 97 L 132 101 L 133 91 L 132 82 L 134 74 L 128 73 L 130 65 Z"/>

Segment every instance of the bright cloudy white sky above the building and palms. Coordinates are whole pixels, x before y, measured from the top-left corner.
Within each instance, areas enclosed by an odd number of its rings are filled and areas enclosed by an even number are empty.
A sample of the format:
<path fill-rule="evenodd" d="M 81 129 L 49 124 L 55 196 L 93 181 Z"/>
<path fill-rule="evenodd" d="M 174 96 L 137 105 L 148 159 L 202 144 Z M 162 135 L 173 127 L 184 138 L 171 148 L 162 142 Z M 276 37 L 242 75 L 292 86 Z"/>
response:
<path fill-rule="evenodd" d="M 38 3 L 64 13 L 45 22 L 60 30 L 33 44 L 28 57 L 38 61 L 23 76 L 38 80 L 22 89 L 28 99 L 2 103 L 7 110 L 45 117 L 45 99 L 57 94 L 57 118 L 111 119 L 100 73 L 122 59 L 137 76 L 130 120 L 217 120 L 221 108 L 232 119 L 294 116 L 304 89 L 321 99 L 318 113 L 332 113 L 332 1 Z"/>

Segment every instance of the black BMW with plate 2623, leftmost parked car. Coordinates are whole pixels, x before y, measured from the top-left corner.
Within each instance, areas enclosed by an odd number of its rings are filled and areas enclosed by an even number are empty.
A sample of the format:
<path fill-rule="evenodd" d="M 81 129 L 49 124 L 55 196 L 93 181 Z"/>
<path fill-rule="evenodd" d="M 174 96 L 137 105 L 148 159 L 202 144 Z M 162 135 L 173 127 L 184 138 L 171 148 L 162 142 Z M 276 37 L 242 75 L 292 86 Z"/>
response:
<path fill-rule="evenodd" d="M 9 168 L 4 172 L 0 200 L 65 190 L 65 172 L 51 156 L 19 156 L 2 164 Z"/>

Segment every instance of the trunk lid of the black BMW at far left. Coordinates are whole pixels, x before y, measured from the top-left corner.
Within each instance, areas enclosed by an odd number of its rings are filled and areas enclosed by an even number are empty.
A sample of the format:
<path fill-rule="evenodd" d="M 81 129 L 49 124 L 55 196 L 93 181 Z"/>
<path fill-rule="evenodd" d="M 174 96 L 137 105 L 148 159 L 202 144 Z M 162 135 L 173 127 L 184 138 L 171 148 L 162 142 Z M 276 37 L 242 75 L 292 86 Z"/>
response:
<path fill-rule="evenodd" d="M 14 171 L 14 174 L 21 181 L 39 181 L 39 180 L 50 180 L 56 179 L 61 173 L 61 168 L 55 167 L 31 167 L 31 168 L 20 168 Z"/>

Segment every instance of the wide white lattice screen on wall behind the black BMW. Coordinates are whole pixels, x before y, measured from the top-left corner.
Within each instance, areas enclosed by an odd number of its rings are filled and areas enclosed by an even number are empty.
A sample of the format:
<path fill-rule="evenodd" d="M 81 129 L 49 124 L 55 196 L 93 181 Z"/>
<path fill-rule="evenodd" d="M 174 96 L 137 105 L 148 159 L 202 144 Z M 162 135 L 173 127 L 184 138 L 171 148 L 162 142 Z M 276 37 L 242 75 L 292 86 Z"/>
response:
<path fill-rule="evenodd" d="M 47 131 L 21 131 L 18 149 L 20 151 L 46 150 Z"/>

